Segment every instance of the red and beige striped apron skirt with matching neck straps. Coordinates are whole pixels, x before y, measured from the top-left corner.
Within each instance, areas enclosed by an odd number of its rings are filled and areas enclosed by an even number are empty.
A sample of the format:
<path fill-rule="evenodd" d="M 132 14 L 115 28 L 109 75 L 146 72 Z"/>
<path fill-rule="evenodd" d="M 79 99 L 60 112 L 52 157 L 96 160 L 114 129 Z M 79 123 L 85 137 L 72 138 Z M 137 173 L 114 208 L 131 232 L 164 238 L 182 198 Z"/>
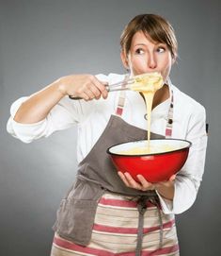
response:
<path fill-rule="evenodd" d="M 124 93 L 118 100 L 117 115 L 124 106 Z M 173 95 L 166 126 L 171 136 Z M 162 212 L 159 201 L 142 196 L 125 196 L 106 191 L 98 200 L 91 238 L 87 246 L 74 243 L 55 232 L 51 256 L 153 256 L 180 255 L 174 214 Z M 140 208 L 141 207 L 141 208 Z"/>

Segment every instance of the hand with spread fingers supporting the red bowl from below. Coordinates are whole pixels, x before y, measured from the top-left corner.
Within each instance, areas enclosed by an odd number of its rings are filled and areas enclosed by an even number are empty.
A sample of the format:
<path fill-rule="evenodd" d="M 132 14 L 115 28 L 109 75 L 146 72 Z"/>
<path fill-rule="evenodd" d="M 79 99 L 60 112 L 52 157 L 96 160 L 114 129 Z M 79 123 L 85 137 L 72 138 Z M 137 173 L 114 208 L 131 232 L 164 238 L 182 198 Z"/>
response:
<path fill-rule="evenodd" d="M 176 175 L 172 175 L 170 179 L 166 181 L 160 181 L 157 183 L 150 183 L 142 175 L 137 175 L 139 182 L 135 181 L 129 173 L 118 172 L 118 176 L 124 184 L 129 188 L 134 188 L 141 191 L 157 190 L 162 196 L 168 199 L 172 199 L 174 195 L 174 180 Z"/>

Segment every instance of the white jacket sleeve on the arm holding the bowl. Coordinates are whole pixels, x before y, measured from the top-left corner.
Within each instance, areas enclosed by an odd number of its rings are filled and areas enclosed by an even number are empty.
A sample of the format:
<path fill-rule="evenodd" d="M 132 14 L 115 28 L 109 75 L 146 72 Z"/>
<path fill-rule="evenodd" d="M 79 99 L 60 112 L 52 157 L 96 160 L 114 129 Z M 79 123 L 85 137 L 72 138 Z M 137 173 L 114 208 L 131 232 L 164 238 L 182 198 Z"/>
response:
<path fill-rule="evenodd" d="M 207 146 L 206 113 L 201 105 L 190 115 L 186 140 L 190 141 L 192 146 L 187 161 L 175 179 L 173 201 L 160 196 L 164 213 L 183 213 L 196 200 L 204 172 Z"/>

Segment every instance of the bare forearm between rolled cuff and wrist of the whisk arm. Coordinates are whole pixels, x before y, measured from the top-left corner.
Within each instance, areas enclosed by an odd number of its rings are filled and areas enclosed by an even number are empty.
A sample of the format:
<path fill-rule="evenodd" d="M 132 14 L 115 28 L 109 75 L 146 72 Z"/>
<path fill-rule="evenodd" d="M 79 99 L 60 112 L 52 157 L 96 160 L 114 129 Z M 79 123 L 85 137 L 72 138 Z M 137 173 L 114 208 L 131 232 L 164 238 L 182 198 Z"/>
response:
<path fill-rule="evenodd" d="M 59 80 L 56 80 L 24 101 L 14 120 L 22 124 L 37 123 L 48 115 L 64 95 Z"/>

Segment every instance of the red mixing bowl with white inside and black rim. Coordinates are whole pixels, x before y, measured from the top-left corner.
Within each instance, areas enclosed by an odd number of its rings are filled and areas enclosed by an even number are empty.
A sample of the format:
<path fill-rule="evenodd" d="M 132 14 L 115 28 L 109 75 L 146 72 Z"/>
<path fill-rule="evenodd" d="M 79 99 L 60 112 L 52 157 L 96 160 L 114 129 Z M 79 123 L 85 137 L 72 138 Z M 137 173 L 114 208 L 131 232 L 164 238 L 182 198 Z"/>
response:
<path fill-rule="evenodd" d="M 168 180 L 181 170 L 192 144 L 189 141 L 179 139 L 150 140 L 152 146 L 164 147 L 166 145 L 172 149 L 169 151 L 166 149 L 166 152 L 139 155 L 122 153 L 122 151 L 145 145 L 147 145 L 147 140 L 113 145 L 107 149 L 107 153 L 110 154 L 118 171 L 130 173 L 136 181 L 138 181 L 136 176 L 141 174 L 148 181 L 155 183 Z"/>

